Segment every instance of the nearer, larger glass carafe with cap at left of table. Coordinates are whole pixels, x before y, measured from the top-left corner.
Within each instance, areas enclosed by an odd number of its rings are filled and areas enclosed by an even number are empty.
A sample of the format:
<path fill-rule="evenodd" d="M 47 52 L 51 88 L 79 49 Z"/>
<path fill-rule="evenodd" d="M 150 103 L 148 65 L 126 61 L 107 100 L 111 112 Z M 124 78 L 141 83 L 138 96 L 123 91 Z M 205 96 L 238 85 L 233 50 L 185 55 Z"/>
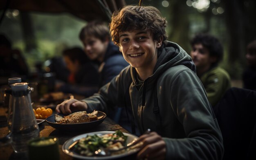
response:
<path fill-rule="evenodd" d="M 28 83 L 12 84 L 11 91 L 13 103 L 12 146 L 16 153 L 23 153 L 28 151 L 28 140 L 39 137 L 39 127 L 32 109 Z"/>

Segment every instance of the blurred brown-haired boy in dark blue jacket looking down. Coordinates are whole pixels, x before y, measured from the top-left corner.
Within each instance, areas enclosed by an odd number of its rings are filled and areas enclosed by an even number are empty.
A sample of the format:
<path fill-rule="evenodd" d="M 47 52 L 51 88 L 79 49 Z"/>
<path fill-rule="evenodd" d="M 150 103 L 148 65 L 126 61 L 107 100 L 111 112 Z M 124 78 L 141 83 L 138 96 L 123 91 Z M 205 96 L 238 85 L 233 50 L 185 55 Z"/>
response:
<path fill-rule="evenodd" d="M 113 44 L 108 26 L 99 20 L 89 22 L 81 29 L 79 38 L 83 43 L 86 55 L 99 64 L 99 87 L 110 82 L 129 64 L 124 59 L 119 47 Z M 132 117 L 131 110 L 114 107 L 107 113 L 115 122 L 130 131 L 127 114 Z"/>

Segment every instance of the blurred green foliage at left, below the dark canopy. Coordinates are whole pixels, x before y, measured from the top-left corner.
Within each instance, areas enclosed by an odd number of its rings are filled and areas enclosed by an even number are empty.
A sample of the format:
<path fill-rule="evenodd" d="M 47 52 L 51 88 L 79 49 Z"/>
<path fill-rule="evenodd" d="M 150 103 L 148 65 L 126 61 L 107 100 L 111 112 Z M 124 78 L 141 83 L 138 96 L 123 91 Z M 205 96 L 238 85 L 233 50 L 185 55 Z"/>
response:
<path fill-rule="evenodd" d="M 19 16 L 5 17 L 0 30 L 12 42 L 12 47 L 20 50 L 27 64 L 33 68 L 36 63 L 44 62 L 55 56 L 61 56 L 65 48 L 80 46 L 79 32 L 85 21 L 69 14 L 39 14 L 31 13 L 37 48 L 27 53 L 22 36 L 22 26 Z"/>

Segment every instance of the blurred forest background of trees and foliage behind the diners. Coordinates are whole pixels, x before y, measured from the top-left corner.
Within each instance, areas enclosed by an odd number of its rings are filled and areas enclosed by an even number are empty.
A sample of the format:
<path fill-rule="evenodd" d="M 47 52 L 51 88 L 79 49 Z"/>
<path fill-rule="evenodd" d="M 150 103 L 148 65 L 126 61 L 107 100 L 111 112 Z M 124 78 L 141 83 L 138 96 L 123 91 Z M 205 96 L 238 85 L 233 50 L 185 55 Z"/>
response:
<path fill-rule="evenodd" d="M 126 4 L 138 1 L 125 0 Z M 234 81 L 241 79 L 246 67 L 246 46 L 256 39 L 255 0 L 144 0 L 143 5 L 161 11 L 168 21 L 168 40 L 182 46 L 187 53 L 191 51 L 189 42 L 197 33 L 209 33 L 220 39 L 225 53 L 220 66 Z M 61 57 L 65 48 L 82 47 L 78 35 L 86 23 L 70 13 L 9 9 L 0 24 L 0 33 L 7 35 L 13 48 L 22 52 L 34 72 L 36 64 Z"/>

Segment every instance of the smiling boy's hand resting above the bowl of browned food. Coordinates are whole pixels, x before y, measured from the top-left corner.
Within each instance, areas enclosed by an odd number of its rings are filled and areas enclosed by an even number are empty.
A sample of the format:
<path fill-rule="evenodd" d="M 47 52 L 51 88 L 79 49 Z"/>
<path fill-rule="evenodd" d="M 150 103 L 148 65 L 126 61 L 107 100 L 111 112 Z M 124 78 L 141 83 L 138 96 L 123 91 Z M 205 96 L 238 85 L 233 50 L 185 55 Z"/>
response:
<path fill-rule="evenodd" d="M 72 110 L 87 110 L 88 106 L 85 102 L 79 101 L 77 99 L 69 99 L 63 101 L 61 104 L 56 106 L 56 112 L 63 113 L 63 114 L 71 114 Z"/>

